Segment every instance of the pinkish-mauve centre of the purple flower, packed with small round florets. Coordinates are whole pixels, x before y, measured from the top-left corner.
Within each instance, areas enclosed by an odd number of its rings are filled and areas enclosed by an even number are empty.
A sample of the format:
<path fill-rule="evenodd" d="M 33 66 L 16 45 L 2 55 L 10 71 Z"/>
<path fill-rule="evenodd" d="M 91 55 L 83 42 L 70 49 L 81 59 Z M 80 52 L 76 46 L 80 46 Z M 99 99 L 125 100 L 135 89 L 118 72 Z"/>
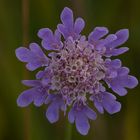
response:
<path fill-rule="evenodd" d="M 87 41 L 68 40 L 62 50 L 53 55 L 50 64 L 54 73 L 52 89 L 67 100 L 85 100 L 86 94 L 92 94 L 105 76 L 102 65 L 100 54 L 92 50 Z"/>

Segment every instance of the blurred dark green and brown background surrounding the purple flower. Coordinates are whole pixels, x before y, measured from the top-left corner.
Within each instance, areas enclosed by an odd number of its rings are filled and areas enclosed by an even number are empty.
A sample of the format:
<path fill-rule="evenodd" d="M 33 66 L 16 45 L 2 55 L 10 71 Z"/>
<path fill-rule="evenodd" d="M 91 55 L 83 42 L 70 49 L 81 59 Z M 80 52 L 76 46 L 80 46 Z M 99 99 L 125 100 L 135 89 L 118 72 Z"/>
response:
<path fill-rule="evenodd" d="M 27 73 L 15 57 L 17 47 L 40 43 L 36 35 L 40 28 L 55 30 L 65 6 L 85 19 L 86 35 L 95 26 L 106 26 L 111 33 L 129 28 L 130 38 L 125 45 L 130 51 L 119 58 L 132 75 L 140 77 L 139 0 L 0 0 L 0 140 L 67 140 L 67 118 L 62 114 L 59 122 L 50 124 L 45 106 L 17 107 L 16 99 L 25 88 L 20 81 L 33 78 L 33 74 Z M 73 125 L 71 140 L 140 140 L 139 92 L 138 86 L 127 96 L 118 97 L 121 112 L 98 114 L 87 136 L 77 133 Z"/>

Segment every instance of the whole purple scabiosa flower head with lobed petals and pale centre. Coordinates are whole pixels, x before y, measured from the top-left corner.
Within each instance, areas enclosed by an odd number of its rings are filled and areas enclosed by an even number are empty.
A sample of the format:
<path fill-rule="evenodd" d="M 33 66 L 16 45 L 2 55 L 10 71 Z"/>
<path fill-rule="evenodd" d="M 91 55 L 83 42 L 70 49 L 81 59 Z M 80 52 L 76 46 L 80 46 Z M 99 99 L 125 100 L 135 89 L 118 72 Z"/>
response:
<path fill-rule="evenodd" d="M 48 105 L 46 117 L 51 123 L 58 121 L 60 110 L 68 113 L 69 122 L 75 122 L 79 133 L 86 135 L 89 120 L 96 119 L 89 102 L 100 113 L 105 110 L 114 114 L 120 111 L 121 104 L 107 90 L 110 88 L 124 96 L 127 88 L 138 84 L 119 59 L 111 59 L 128 51 L 127 47 L 119 46 L 127 41 L 129 33 L 121 29 L 107 35 L 106 27 L 96 27 L 86 38 L 81 35 L 84 20 L 74 21 L 73 12 L 67 7 L 61 13 L 61 21 L 54 33 L 48 28 L 38 32 L 42 47 L 49 50 L 48 56 L 36 43 L 31 43 L 29 49 L 16 49 L 17 58 L 26 62 L 28 70 L 44 68 L 36 74 L 36 80 L 23 80 L 31 88 L 20 94 L 17 104 L 20 107 L 32 102 L 35 106 Z"/>

